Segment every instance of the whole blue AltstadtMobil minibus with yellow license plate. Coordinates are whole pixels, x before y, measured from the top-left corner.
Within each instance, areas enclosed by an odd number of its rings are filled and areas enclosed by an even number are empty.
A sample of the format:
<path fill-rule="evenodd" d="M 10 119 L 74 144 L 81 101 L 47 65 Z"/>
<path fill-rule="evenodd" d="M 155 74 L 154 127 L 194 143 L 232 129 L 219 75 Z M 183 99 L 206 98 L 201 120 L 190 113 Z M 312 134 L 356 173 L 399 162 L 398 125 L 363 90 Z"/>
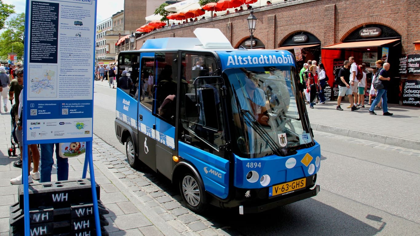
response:
<path fill-rule="evenodd" d="M 316 196 L 320 145 L 294 55 L 234 49 L 218 29 L 194 34 L 118 55 L 115 134 L 131 167 L 169 178 L 194 212 Z"/>

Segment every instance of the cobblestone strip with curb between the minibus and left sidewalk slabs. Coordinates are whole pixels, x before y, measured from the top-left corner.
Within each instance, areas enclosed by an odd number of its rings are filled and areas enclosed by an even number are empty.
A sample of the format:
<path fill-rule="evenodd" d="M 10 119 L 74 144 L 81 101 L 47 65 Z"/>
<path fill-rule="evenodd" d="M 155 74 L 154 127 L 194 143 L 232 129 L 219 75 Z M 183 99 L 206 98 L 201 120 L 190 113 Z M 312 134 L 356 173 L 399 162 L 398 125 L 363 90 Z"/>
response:
<path fill-rule="evenodd" d="M 139 169 L 139 171 L 134 170 L 128 164 L 125 154 L 106 144 L 95 135 L 93 139 L 93 160 L 94 165 L 98 166 L 97 163 L 101 163 L 101 165 L 113 173 L 116 178 L 115 183 L 113 183 L 114 185 L 121 182 L 133 193 L 134 197 L 140 203 L 136 207 L 141 212 L 155 212 L 178 233 L 182 235 L 200 236 L 241 235 L 229 227 L 220 226 L 213 223 L 211 219 L 191 212 L 183 206 L 181 195 L 179 195 L 175 188 L 172 188 L 168 179 L 153 173 L 152 170 L 146 167 Z M 103 185 L 101 184 L 101 186 Z M 115 206 L 113 204 L 107 204 L 107 200 L 102 199 L 102 196 L 103 194 L 101 194 L 101 200 L 104 202 L 105 207 L 113 211 Z M 110 226 L 105 228 L 110 232 L 110 235 L 113 235 L 111 232 L 118 231 L 121 227 L 117 228 L 111 223 L 113 222 L 113 217 L 108 217 L 108 221 L 110 221 Z M 150 235 L 159 235 L 158 232 L 155 233 Z"/>

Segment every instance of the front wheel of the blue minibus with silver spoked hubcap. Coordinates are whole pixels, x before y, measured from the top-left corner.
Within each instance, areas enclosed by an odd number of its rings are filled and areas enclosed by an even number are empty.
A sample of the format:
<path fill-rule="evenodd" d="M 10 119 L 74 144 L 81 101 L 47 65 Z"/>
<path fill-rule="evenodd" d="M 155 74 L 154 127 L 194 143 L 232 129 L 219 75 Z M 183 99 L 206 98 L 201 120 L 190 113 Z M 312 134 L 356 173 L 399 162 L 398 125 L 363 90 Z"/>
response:
<path fill-rule="evenodd" d="M 187 172 L 179 178 L 179 191 L 186 206 L 193 212 L 200 213 L 207 209 L 205 192 L 194 174 Z"/>

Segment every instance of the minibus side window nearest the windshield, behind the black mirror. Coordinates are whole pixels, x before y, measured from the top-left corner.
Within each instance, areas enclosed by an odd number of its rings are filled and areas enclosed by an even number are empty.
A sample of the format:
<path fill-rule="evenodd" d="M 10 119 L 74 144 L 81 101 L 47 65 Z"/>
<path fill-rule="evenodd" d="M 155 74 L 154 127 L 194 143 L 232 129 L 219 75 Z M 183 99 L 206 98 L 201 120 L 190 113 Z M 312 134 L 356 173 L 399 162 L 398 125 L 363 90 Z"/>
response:
<path fill-rule="evenodd" d="M 213 153 L 214 155 L 218 155 L 219 157 L 224 157 L 224 152 L 220 149 L 220 145 L 226 144 L 224 139 L 223 112 L 220 107 L 221 98 L 219 91 L 222 84 L 217 83 L 217 80 L 215 79 L 198 79 L 197 93 L 193 84 L 197 76 L 209 75 L 208 66 L 211 65 L 214 67 L 215 60 L 213 57 L 207 55 L 183 53 L 182 63 L 183 66 L 181 66 L 181 68 L 185 68 L 186 79 L 185 86 L 182 86 L 181 84 L 183 89 L 181 88 L 180 91 L 181 101 L 179 103 L 179 115 L 181 127 L 178 129 L 179 140 Z M 192 68 L 194 68 L 194 70 Z M 181 81 L 184 80 L 181 78 Z M 216 104 L 214 113 L 218 115 L 218 118 L 211 122 L 206 121 L 204 117 L 206 108 L 201 108 L 196 105 L 200 102 L 200 96 L 202 99 L 202 96 L 205 94 L 207 94 L 207 97 L 213 97 L 214 94 Z M 196 97 L 196 95 L 198 97 Z M 211 127 L 208 127 L 210 123 Z M 183 136 L 191 136 L 191 142 L 184 139 Z"/>

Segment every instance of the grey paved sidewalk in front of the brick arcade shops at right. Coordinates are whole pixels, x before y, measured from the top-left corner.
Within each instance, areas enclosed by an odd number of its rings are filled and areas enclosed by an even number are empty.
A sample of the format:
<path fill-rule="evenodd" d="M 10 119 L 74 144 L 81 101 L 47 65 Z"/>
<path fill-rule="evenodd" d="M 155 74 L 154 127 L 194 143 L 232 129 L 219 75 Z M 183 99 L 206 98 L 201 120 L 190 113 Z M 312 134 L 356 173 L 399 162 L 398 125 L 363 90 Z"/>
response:
<path fill-rule="evenodd" d="M 385 116 L 382 110 L 370 115 L 369 105 L 357 111 L 346 108 L 349 102 L 341 103 L 343 111 L 336 105 L 337 101 L 317 103 L 314 109 L 307 105 L 313 130 L 420 150 L 420 108 L 388 104 L 394 115 Z"/>

